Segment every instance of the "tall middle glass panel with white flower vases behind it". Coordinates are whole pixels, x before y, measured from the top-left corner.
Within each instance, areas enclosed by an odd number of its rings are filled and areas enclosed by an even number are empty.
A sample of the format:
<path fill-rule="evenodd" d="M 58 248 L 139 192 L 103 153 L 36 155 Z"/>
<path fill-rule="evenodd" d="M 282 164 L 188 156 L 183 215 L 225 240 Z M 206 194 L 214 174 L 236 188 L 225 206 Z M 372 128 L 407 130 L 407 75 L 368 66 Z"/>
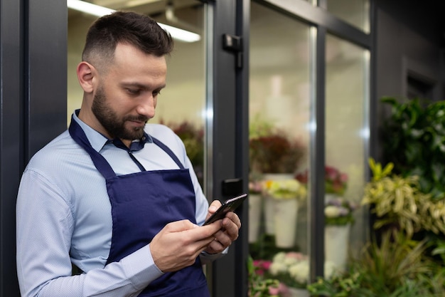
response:
<path fill-rule="evenodd" d="M 250 26 L 250 252 L 272 261 L 269 276 L 303 288 L 310 195 L 295 176 L 309 160 L 309 26 L 256 3 Z"/>

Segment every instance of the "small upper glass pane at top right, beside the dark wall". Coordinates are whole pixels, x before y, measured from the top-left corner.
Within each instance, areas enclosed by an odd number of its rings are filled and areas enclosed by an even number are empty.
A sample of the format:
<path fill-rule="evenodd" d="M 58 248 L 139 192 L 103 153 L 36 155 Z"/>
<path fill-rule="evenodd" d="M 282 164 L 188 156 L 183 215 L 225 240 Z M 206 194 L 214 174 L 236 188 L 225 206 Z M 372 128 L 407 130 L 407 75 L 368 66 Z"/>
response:
<path fill-rule="evenodd" d="M 328 11 L 339 19 L 370 32 L 370 1 L 369 0 L 337 0 L 326 1 Z"/>

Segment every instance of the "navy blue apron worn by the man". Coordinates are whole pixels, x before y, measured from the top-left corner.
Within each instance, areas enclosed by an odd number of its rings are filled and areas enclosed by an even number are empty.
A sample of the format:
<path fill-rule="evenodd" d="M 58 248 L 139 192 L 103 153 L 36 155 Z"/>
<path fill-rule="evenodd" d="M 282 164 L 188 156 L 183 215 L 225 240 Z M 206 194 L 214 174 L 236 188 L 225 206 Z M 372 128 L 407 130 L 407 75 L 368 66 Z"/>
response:
<path fill-rule="evenodd" d="M 196 224 L 195 192 L 188 169 L 166 145 L 152 137 L 178 165 L 178 170 L 142 171 L 117 176 L 107 160 L 96 152 L 80 125 L 71 120 L 70 135 L 90 154 L 107 182 L 112 205 L 112 244 L 107 264 L 149 244 L 169 222 L 189 219 Z M 164 273 L 139 294 L 141 297 L 209 297 L 199 258 L 180 271 Z"/>

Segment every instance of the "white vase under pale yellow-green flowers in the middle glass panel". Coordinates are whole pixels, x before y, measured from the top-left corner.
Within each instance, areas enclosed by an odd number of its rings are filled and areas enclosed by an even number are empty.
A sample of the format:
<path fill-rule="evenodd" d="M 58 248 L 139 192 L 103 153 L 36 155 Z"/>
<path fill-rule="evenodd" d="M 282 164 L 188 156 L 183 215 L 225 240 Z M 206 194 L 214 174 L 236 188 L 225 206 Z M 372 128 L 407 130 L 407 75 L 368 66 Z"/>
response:
<path fill-rule="evenodd" d="M 274 199 L 275 245 L 280 248 L 295 246 L 298 199 Z"/>

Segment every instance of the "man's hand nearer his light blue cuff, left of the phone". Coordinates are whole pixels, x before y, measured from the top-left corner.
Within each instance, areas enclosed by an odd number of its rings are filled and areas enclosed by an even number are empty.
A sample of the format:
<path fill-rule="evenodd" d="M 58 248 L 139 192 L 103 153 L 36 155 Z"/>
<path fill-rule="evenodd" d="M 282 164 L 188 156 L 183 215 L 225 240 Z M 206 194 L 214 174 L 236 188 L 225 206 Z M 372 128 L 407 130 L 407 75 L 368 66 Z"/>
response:
<path fill-rule="evenodd" d="M 163 272 L 193 265 L 200 252 L 215 241 L 220 224 L 198 226 L 188 220 L 167 224 L 150 243 L 154 264 Z"/>

